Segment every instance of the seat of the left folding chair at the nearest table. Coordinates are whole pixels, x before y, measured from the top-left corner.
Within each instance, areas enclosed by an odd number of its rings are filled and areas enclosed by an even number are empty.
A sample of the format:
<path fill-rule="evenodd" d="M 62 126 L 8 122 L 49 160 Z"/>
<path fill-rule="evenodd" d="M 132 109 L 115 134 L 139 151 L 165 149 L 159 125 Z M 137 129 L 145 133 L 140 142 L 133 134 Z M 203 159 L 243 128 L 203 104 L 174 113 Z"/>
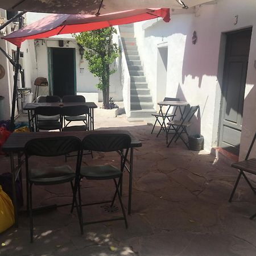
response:
<path fill-rule="evenodd" d="M 75 178 L 75 171 L 70 166 L 46 168 L 31 168 L 28 171 L 29 179 L 36 185 L 51 185 L 71 181 Z"/>

